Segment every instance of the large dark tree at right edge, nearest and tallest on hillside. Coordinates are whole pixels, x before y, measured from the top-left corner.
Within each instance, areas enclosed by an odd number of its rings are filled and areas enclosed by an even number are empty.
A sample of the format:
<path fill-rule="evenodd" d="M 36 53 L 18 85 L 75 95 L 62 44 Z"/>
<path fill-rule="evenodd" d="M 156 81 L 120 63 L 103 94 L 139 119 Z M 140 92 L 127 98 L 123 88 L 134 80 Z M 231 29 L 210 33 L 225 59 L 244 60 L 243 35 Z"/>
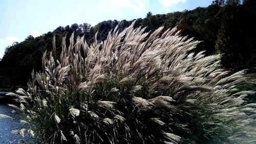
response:
<path fill-rule="evenodd" d="M 236 5 L 225 6 L 221 13 L 216 51 L 223 54 L 222 65 L 233 71 L 255 71 L 255 13 Z"/>

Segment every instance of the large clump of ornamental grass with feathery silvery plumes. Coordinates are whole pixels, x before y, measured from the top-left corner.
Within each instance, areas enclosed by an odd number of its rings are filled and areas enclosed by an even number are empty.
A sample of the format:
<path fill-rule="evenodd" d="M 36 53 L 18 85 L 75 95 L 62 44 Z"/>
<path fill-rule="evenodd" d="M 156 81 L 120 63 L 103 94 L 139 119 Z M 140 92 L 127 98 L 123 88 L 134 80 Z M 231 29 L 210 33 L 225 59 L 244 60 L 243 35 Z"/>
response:
<path fill-rule="evenodd" d="M 255 106 L 244 71 L 228 75 L 220 55 L 191 53 L 198 41 L 176 29 L 149 34 L 133 25 L 104 42 L 62 42 L 42 58 L 19 109 L 44 142 L 225 143 L 255 136 Z M 48 56 L 47 56 L 48 55 Z M 30 130 L 30 132 L 33 129 Z"/>

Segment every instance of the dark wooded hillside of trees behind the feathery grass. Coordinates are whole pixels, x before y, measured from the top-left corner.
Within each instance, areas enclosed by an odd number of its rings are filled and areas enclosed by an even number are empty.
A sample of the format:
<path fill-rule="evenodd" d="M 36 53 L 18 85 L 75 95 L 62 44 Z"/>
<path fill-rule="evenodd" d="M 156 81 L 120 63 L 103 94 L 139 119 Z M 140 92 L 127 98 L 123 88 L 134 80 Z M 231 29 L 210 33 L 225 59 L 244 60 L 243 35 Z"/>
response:
<path fill-rule="evenodd" d="M 56 37 L 56 55 L 60 54 L 62 37 L 84 36 L 90 44 L 96 32 L 97 39 L 105 40 L 108 32 L 119 25 L 123 30 L 134 20 L 108 20 L 91 27 L 88 23 L 58 27 L 34 38 L 6 47 L 5 55 L 0 61 L 0 87 L 26 86 L 31 71 L 41 70 L 41 56 L 47 50 L 52 51 L 53 36 Z M 154 31 L 158 27 L 177 28 L 181 35 L 195 37 L 202 41 L 195 50 L 205 51 L 206 55 L 222 54 L 224 68 L 238 71 L 248 69 L 248 73 L 256 72 L 256 1 L 254 0 L 216 0 L 207 8 L 196 8 L 167 14 L 153 15 L 137 19 L 135 27 L 146 26 L 146 31 Z"/>

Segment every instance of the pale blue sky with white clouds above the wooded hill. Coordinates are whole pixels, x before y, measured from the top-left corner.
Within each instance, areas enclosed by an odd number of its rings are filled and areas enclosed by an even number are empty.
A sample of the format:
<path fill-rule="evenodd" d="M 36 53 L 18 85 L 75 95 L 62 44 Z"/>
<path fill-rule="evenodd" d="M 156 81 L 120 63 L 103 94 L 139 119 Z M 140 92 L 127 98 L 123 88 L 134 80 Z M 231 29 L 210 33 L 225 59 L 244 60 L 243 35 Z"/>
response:
<path fill-rule="evenodd" d="M 0 58 L 5 48 L 32 35 L 73 23 L 95 26 L 104 20 L 144 18 L 207 7 L 213 0 L 0 0 Z"/>

